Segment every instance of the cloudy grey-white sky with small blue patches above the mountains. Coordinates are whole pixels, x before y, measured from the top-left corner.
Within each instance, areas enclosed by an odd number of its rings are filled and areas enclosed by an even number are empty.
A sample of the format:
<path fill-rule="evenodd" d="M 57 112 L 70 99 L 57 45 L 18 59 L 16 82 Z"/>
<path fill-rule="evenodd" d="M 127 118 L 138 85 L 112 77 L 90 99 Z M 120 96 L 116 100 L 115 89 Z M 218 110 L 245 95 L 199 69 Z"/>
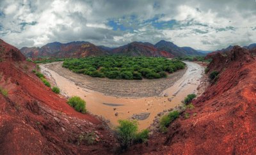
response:
<path fill-rule="evenodd" d="M 172 41 L 216 50 L 256 43 L 255 0 L 1 0 L 0 38 L 18 48 L 60 41 L 117 47 Z"/>

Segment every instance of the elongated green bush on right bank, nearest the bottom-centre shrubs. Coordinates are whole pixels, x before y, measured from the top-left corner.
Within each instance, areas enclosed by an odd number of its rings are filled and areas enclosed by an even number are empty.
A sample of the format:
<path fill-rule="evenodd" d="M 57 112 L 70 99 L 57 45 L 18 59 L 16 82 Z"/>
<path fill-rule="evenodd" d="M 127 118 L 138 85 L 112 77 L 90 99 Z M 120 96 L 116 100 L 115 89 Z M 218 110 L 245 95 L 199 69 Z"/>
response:
<path fill-rule="evenodd" d="M 160 131 L 163 133 L 167 132 L 167 127 L 173 122 L 175 119 L 179 117 L 180 113 L 178 111 L 170 112 L 168 115 L 164 115 L 160 119 Z"/>

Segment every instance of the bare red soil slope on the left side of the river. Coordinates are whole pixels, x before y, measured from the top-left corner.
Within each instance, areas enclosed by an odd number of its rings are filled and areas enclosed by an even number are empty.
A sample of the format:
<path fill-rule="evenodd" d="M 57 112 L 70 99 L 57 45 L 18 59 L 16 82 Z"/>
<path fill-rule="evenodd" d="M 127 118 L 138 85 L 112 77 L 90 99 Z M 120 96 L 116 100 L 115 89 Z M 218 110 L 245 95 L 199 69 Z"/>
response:
<path fill-rule="evenodd" d="M 46 87 L 20 51 L 0 40 L 0 154 L 100 154 L 111 133 L 92 115 L 81 114 Z M 83 140 L 94 132 L 94 145 Z M 113 136 L 112 136 L 113 137 Z M 112 144 L 111 144 L 112 143 Z"/>

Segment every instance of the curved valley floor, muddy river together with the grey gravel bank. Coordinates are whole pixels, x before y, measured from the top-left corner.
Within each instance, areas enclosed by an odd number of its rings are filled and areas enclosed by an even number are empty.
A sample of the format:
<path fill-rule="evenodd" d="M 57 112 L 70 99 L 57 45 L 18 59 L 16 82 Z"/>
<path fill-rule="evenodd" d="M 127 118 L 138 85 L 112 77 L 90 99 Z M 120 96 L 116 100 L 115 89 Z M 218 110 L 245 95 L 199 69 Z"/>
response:
<path fill-rule="evenodd" d="M 163 115 L 180 105 L 181 101 L 191 93 L 197 93 L 204 68 L 196 63 L 186 62 L 188 68 L 157 80 L 109 80 L 92 78 L 73 73 L 61 67 L 61 63 L 41 64 L 42 72 L 51 78 L 61 89 L 64 96 L 79 96 L 86 101 L 86 108 L 95 115 L 102 116 L 109 126 L 116 126 L 119 119 L 139 118 L 139 128 L 148 128 L 156 117 Z M 149 86 L 148 86 L 149 85 Z M 157 87 L 162 89 L 154 89 Z M 99 88 L 102 88 L 99 92 Z M 117 92 L 129 91 L 130 98 Z M 145 87 L 147 89 L 145 89 Z M 91 88 L 91 89 L 90 89 Z M 118 88 L 118 89 L 117 89 Z M 109 95 L 116 92 L 117 96 Z M 140 91 L 142 90 L 142 91 Z M 152 92 L 153 90 L 153 92 Z M 151 97 L 140 97 L 138 94 L 153 93 Z M 140 95 L 139 95 L 140 96 Z M 168 101 L 172 100 L 172 101 Z"/>

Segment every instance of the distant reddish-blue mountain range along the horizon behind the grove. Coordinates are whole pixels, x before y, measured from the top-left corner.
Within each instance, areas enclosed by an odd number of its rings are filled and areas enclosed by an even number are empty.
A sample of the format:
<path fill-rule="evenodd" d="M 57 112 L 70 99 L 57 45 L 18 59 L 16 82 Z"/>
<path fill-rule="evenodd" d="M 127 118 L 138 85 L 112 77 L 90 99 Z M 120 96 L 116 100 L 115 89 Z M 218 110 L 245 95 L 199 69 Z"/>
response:
<path fill-rule="evenodd" d="M 97 55 L 129 55 L 147 57 L 180 57 L 187 55 L 204 55 L 191 47 L 178 47 L 170 41 L 161 40 L 155 45 L 148 42 L 134 41 L 116 48 L 97 46 L 88 41 L 69 43 L 53 42 L 40 47 L 22 47 L 26 57 L 88 57 Z"/>

